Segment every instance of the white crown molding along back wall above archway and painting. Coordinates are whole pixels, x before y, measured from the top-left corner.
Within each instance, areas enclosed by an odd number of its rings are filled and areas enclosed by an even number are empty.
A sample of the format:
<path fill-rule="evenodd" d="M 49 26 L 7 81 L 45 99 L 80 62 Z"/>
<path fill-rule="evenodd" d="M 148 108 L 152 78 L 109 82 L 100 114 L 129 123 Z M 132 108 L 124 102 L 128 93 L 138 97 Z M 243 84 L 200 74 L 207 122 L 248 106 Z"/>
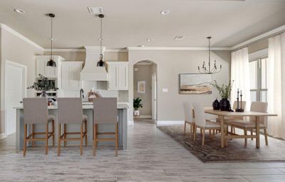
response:
<path fill-rule="evenodd" d="M 128 47 L 128 50 L 209 50 L 207 47 Z M 217 47 L 211 50 L 232 50 L 230 47 Z"/>

